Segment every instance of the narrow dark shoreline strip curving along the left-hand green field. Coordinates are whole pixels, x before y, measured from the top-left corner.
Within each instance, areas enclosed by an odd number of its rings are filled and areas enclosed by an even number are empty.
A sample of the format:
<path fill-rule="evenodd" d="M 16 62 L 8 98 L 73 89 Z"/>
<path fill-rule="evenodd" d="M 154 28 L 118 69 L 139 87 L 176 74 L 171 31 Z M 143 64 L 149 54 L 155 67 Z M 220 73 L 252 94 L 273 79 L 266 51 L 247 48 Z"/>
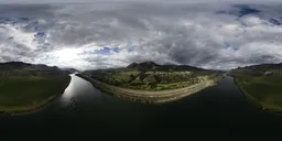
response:
<path fill-rule="evenodd" d="M 72 77 L 68 76 L 67 77 L 67 82 L 65 84 L 65 86 L 62 88 L 62 90 L 59 90 L 57 94 L 48 97 L 46 100 L 35 105 L 35 106 L 28 106 L 24 108 L 14 108 L 14 109 L 9 109 L 7 108 L 4 110 L 0 108 L 0 115 L 8 115 L 8 116 L 14 116 L 14 115 L 28 115 L 28 113 L 32 113 L 32 112 L 36 112 L 40 111 L 42 109 L 44 109 L 45 107 L 48 106 L 48 104 L 51 104 L 52 101 L 54 101 L 56 98 L 58 98 L 59 96 L 62 96 L 65 91 L 65 89 L 68 87 L 68 85 L 70 84 Z"/>

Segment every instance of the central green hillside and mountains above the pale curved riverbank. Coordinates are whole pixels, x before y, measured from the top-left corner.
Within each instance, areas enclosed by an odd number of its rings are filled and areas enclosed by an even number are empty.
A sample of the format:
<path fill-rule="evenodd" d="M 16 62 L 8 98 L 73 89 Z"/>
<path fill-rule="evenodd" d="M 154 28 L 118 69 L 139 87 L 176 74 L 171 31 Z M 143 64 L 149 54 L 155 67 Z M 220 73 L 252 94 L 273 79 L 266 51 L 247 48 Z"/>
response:
<path fill-rule="evenodd" d="M 84 74 L 123 88 L 164 90 L 187 87 L 209 78 L 219 78 L 221 72 L 188 65 L 159 65 L 153 62 L 143 62 L 132 63 L 123 68 L 86 70 Z"/>

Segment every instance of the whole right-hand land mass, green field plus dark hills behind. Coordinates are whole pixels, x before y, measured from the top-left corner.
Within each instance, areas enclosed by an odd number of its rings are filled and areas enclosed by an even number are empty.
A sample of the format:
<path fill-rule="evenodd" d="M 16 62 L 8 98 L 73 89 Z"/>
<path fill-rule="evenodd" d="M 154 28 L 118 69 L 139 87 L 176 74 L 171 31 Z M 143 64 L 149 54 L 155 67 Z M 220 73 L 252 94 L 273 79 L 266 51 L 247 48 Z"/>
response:
<path fill-rule="evenodd" d="M 282 64 L 261 64 L 229 72 L 236 85 L 265 110 L 282 111 Z"/>

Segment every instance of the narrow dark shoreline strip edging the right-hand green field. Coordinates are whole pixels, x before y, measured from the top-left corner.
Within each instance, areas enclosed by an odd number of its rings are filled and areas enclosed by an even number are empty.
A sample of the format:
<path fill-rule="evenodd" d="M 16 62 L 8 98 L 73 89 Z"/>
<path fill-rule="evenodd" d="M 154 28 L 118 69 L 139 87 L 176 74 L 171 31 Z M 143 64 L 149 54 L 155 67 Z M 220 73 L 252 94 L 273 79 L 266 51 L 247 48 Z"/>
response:
<path fill-rule="evenodd" d="M 251 94 L 247 93 L 242 86 L 240 86 L 238 84 L 238 79 L 236 78 L 236 76 L 232 76 L 234 77 L 234 82 L 236 84 L 236 86 L 239 88 L 239 90 L 246 96 L 247 99 L 250 100 L 250 102 L 252 102 L 254 106 L 259 107 L 260 109 L 262 110 L 267 110 L 267 111 L 273 111 L 273 112 L 282 112 L 282 108 L 278 108 L 278 107 L 274 107 L 274 106 L 270 106 L 268 104 L 264 104 L 260 100 L 258 100 L 257 98 L 254 98 Z"/>

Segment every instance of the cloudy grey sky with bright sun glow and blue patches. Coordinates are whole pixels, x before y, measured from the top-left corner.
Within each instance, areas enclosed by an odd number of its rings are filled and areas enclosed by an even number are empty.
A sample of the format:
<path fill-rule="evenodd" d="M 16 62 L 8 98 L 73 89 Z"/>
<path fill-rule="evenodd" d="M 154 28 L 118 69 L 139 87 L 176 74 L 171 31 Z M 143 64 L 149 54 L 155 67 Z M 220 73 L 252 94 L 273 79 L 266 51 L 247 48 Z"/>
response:
<path fill-rule="evenodd" d="M 282 63 L 282 2 L 21 1 L 29 3 L 0 0 L 0 62 L 80 70 L 144 61 L 213 69 Z"/>

